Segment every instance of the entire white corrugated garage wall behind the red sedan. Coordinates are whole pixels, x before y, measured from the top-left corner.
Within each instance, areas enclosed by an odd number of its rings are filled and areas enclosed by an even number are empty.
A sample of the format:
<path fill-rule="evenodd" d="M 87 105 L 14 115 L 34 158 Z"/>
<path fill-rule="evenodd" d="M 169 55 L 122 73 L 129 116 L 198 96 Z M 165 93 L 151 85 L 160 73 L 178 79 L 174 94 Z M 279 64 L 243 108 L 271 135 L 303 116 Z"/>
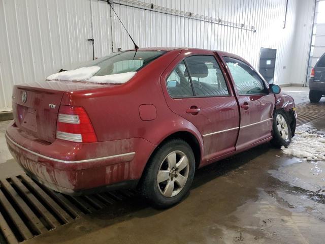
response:
<path fill-rule="evenodd" d="M 308 23 L 314 0 L 145 0 L 173 10 L 220 18 L 247 26 L 256 32 L 211 21 L 143 10 L 138 1 L 115 1 L 114 8 L 140 47 L 186 46 L 217 49 L 243 56 L 256 69 L 259 48 L 277 49 L 275 83 L 297 82 L 291 72 L 304 64 L 310 41 Z M 117 3 L 128 2 L 134 7 Z M 304 12 L 303 12 L 304 11 Z M 106 2 L 98 0 L 0 0 L 0 111 L 11 110 L 13 84 L 42 82 L 59 69 L 70 69 L 118 48 L 133 48 Z M 212 21 L 213 22 L 213 21 Z M 304 26 L 306 23 L 306 26 Z M 304 26 L 303 30 L 300 28 Z M 111 31 L 112 30 L 112 31 Z M 301 33 L 301 35 L 297 34 Z M 297 48 L 298 51 L 297 51 Z M 295 57 L 295 64 L 293 62 Z M 301 65 L 301 76 L 303 69 Z M 304 80 L 304 79 L 302 79 Z"/>

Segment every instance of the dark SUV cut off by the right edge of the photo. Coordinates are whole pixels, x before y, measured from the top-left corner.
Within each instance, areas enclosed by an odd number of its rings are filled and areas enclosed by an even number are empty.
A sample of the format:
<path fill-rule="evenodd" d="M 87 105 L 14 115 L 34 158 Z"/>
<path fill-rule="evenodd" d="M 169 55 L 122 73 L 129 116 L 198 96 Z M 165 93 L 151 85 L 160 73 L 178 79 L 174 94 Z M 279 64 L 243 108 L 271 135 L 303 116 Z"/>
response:
<path fill-rule="evenodd" d="M 309 100 L 318 103 L 325 95 L 325 53 L 319 58 L 315 67 L 310 72 Z"/>

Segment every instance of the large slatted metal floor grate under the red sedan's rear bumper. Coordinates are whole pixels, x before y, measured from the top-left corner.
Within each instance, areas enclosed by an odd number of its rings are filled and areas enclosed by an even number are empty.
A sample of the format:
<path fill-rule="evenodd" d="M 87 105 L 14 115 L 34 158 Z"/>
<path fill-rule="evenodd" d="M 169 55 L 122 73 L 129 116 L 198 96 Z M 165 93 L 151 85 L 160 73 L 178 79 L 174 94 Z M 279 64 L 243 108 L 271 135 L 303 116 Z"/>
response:
<path fill-rule="evenodd" d="M 28 175 L 0 179 L 0 243 L 18 243 L 134 196 L 131 191 L 71 197 Z"/>

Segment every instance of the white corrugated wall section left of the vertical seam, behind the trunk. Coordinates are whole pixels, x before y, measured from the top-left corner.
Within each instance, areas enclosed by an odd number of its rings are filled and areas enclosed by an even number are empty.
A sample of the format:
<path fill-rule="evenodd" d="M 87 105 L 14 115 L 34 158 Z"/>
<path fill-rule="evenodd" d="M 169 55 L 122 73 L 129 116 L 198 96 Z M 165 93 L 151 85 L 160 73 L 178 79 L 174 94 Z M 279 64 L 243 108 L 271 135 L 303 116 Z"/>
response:
<path fill-rule="evenodd" d="M 91 0 L 95 56 L 112 52 L 110 8 Z M 90 0 L 0 0 L 0 111 L 12 86 L 92 59 Z"/>

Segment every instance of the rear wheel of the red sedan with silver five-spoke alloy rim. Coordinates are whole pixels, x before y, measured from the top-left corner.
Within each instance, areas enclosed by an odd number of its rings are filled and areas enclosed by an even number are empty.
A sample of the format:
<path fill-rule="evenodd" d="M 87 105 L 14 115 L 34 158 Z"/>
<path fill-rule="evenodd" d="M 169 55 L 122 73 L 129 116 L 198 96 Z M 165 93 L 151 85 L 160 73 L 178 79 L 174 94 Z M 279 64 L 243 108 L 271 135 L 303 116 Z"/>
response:
<path fill-rule="evenodd" d="M 158 208 L 173 206 L 189 191 L 194 170 L 191 147 L 181 139 L 170 140 L 149 160 L 141 184 L 142 194 Z"/>

